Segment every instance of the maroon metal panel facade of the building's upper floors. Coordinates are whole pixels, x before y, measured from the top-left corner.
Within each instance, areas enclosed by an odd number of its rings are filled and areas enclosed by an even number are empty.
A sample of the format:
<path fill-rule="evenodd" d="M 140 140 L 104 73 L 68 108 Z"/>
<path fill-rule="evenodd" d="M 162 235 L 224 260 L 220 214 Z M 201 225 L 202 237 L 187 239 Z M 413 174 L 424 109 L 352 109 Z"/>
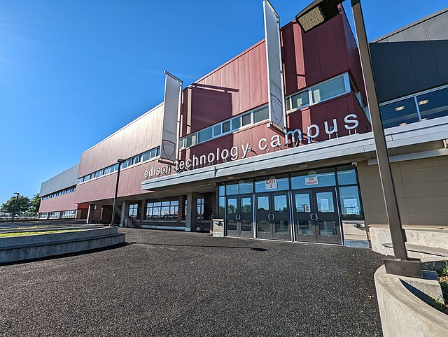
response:
<path fill-rule="evenodd" d="M 281 29 L 281 43 L 287 95 L 344 72 L 351 75 L 355 85 L 364 94 L 358 50 L 344 13 L 307 34 L 300 30 L 298 24 L 290 22 Z M 181 103 L 181 136 L 267 103 L 266 68 L 265 41 L 260 41 L 184 89 Z M 153 109 L 151 113 L 134 120 L 83 152 L 78 176 L 103 169 L 116 163 L 118 158 L 127 159 L 160 145 L 161 112 L 161 107 Z M 358 117 L 358 133 L 370 131 L 370 124 L 353 93 L 288 114 L 288 129 L 298 128 L 306 133 L 309 125 L 316 124 L 323 130 L 323 123 L 328 121 L 331 126 L 335 118 L 339 129 L 338 136 L 345 136 L 349 132 L 344 128 L 344 117 L 349 114 L 356 114 Z M 179 159 L 192 159 L 193 155 L 199 157 L 216 152 L 216 148 L 230 149 L 234 145 L 241 147 L 246 143 L 250 143 L 255 150 L 255 153 L 249 152 L 248 157 L 260 155 L 260 150 L 256 147 L 260 138 L 270 139 L 275 134 L 265 123 L 255 124 L 233 134 L 181 150 Z M 328 136 L 321 132 L 316 141 L 326 139 Z M 274 150 L 279 149 L 267 151 Z M 147 179 L 144 173 L 162 166 L 166 165 L 152 160 L 124 169 L 120 175 L 118 196 L 148 194 L 149 199 L 151 194 L 141 190 L 141 181 Z M 174 173 L 174 170 L 171 173 Z M 110 201 L 113 198 L 115 182 L 116 173 L 83 182 L 76 187 L 73 196 L 69 196 L 73 198 L 71 203 L 92 203 L 105 199 Z M 45 209 L 50 209 L 50 206 Z"/>

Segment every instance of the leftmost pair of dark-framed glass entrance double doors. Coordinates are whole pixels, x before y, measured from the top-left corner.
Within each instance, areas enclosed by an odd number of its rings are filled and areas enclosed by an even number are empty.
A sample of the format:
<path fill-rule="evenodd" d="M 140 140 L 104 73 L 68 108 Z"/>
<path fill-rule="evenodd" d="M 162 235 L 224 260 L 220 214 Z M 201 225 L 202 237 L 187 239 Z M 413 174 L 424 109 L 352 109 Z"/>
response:
<path fill-rule="evenodd" d="M 228 196 L 226 200 L 227 235 L 253 238 L 252 195 Z"/>

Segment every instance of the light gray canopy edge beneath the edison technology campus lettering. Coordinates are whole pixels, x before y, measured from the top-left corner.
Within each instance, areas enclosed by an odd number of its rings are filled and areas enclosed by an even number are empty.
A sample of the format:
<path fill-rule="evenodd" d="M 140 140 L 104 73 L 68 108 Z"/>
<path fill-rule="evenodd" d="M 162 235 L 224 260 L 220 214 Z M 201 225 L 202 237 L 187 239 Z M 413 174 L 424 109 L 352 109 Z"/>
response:
<path fill-rule="evenodd" d="M 384 131 L 388 148 L 440 141 L 448 135 L 448 116 L 434 120 L 416 122 L 400 127 L 391 127 Z M 154 178 L 141 182 L 141 189 L 154 190 L 162 187 L 226 178 L 230 175 L 251 173 L 266 169 L 306 164 L 324 159 L 337 159 L 351 155 L 372 154 L 375 150 L 372 132 L 354 134 L 335 138 L 330 141 L 302 145 L 277 152 L 239 159 L 235 162 L 207 166 L 201 169 L 186 171 Z"/>

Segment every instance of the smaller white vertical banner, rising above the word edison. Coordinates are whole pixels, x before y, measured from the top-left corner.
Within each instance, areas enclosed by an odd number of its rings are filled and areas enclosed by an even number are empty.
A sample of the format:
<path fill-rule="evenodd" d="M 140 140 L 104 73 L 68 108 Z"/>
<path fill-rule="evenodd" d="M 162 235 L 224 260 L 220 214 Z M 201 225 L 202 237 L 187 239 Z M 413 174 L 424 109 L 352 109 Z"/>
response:
<path fill-rule="evenodd" d="M 165 73 L 165 96 L 163 97 L 162 141 L 160 160 L 175 161 L 178 148 L 179 118 L 181 115 L 181 94 L 183 82 Z"/>

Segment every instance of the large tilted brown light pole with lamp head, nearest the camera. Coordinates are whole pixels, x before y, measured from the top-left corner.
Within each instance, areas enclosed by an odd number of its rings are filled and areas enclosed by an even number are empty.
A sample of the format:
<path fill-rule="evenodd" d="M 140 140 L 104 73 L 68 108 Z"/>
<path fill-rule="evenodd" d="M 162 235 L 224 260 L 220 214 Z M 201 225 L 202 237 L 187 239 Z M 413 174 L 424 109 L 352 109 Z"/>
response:
<path fill-rule="evenodd" d="M 338 15 L 339 8 L 337 5 L 342 2 L 344 2 L 344 0 L 313 1 L 295 16 L 295 20 L 306 33 Z M 398 211 L 397 196 L 393 185 L 386 138 L 384 138 L 383 122 L 381 120 L 381 113 L 379 112 L 377 91 L 374 84 L 372 62 L 370 59 L 369 45 L 367 44 L 367 36 L 365 34 L 363 10 L 361 8 L 360 0 L 351 0 L 351 7 L 353 10 L 365 93 L 367 95 L 367 104 L 370 110 L 373 137 L 377 152 L 379 177 L 381 179 L 384 203 L 386 204 L 386 213 L 389 229 L 391 231 L 393 253 L 395 254 L 395 257 L 387 256 L 386 259 L 384 259 L 386 272 L 414 278 L 422 278 L 420 259 L 412 259 L 407 256 L 405 232 L 402 229 L 400 213 Z"/>

